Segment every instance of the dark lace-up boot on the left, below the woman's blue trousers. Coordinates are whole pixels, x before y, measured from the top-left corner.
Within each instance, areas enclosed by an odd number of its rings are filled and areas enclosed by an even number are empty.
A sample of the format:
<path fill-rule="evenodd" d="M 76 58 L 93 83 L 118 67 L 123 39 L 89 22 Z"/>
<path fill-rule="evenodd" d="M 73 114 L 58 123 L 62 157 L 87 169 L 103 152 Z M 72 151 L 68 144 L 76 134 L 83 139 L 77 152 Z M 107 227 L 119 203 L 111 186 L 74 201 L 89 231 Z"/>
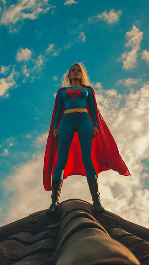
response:
<path fill-rule="evenodd" d="M 49 209 L 46 212 L 46 215 L 48 216 L 51 215 L 51 213 L 56 213 L 59 210 L 59 197 L 62 185 L 63 185 L 62 179 L 52 180 L 52 195 L 51 195 L 52 204 L 50 205 Z"/>

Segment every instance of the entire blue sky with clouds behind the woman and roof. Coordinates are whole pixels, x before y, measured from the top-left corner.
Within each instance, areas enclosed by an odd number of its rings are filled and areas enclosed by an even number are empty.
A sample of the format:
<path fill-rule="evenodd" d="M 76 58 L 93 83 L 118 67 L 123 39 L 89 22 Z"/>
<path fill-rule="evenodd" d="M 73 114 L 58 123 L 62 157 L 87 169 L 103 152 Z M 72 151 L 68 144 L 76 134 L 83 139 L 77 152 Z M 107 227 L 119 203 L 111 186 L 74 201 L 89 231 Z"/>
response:
<path fill-rule="evenodd" d="M 47 209 L 43 158 L 55 93 L 83 61 L 131 177 L 99 176 L 103 206 L 149 227 L 149 1 L 0 1 L 0 225 Z M 61 201 L 91 202 L 85 177 Z"/>

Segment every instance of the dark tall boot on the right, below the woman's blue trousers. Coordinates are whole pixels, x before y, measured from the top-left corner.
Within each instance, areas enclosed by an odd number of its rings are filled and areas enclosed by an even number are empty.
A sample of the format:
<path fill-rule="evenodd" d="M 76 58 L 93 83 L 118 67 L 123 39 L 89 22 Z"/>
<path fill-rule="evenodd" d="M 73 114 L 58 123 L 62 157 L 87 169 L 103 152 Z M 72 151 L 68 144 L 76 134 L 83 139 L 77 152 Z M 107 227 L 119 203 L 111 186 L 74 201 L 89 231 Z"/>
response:
<path fill-rule="evenodd" d="M 99 191 L 98 191 L 98 182 L 97 178 L 87 178 L 88 186 L 89 186 L 89 191 L 92 197 L 93 201 L 93 206 L 95 208 L 96 212 L 105 212 L 103 206 L 100 203 L 100 196 L 99 196 Z"/>

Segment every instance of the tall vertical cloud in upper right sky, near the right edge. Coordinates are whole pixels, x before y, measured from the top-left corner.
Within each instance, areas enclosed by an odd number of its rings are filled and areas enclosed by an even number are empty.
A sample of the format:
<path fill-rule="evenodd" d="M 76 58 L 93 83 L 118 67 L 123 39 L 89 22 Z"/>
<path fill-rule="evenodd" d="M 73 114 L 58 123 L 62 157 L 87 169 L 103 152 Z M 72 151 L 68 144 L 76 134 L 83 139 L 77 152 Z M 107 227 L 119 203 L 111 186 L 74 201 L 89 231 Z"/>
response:
<path fill-rule="evenodd" d="M 126 38 L 128 42 L 126 47 L 130 47 L 132 50 L 130 52 L 125 52 L 122 54 L 123 68 L 128 70 L 136 67 L 138 51 L 140 50 L 140 44 L 143 39 L 143 32 L 133 25 L 131 31 L 127 32 Z"/>

